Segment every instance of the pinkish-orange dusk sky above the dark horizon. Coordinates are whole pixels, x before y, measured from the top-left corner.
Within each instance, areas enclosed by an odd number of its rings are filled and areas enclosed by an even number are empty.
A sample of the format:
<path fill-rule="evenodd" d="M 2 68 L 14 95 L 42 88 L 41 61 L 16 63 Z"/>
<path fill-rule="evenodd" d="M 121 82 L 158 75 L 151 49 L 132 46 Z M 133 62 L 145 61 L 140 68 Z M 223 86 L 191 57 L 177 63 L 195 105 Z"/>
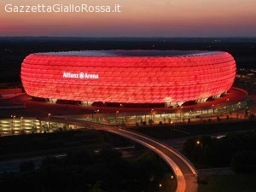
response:
<path fill-rule="evenodd" d="M 119 3 L 121 13 L 7 13 L 6 4 Z M 2 0 L 0 36 L 255 37 L 255 0 Z"/>

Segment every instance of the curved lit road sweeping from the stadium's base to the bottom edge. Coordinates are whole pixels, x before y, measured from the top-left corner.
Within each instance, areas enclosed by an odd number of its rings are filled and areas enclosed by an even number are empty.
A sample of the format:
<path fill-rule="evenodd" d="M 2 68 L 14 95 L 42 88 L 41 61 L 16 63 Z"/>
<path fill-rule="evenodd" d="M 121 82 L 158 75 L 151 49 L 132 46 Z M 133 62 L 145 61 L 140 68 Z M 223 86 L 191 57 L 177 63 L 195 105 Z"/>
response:
<path fill-rule="evenodd" d="M 177 177 L 176 192 L 197 192 L 197 172 L 195 167 L 182 154 L 154 138 L 142 135 L 135 131 L 128 131 L 121 127 L 100 125 L 80 119 L 64 119 L 52 117 L 50 120 L 70 125 L 84 125 L 85 127 L 89 128 L 113 132 L 120 136 L 130 138 L 137 143 L 141 143 L 145 147 L 150 148 L 155 153 L 159 154 L 160 157 L 165 160 L 169 166 L 171 166 L 174 174 Z"/>

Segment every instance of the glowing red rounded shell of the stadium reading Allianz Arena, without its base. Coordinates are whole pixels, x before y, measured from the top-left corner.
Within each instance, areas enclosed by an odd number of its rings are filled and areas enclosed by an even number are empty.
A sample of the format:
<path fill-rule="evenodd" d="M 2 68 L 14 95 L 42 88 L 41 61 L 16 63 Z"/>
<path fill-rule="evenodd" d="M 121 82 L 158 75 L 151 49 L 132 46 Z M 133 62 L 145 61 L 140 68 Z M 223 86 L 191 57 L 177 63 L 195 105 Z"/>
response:
<path fill-rule="evenodd" d="M 206 100 L 230 89 L 234 58 L 220 51 L 87 50 L 28 55 L 29 96 L 57 100 L 170 103 Z"/>

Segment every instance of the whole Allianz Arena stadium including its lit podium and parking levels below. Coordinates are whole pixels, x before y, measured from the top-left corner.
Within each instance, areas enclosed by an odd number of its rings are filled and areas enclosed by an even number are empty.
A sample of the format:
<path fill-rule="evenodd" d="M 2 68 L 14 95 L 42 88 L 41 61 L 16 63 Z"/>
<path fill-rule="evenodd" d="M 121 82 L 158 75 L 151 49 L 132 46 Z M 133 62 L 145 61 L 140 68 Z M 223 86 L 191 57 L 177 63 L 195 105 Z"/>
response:
<path fill-rule="evenodd" d="M 5 102 L 4 115 L 11 118 L 0 119 L 0 126 L 2 134 L 9 135 L 54 131 L 67 119 L 72 120 L 65 127 L 73 129 L 82 126 L 79 119 L 103 125 L 175 126 L 247 118 L 247 92 L 232 87 L 235 76 L 236 61 L 221 51 L 36 53 L 21 65 L 26 94 Z"/>

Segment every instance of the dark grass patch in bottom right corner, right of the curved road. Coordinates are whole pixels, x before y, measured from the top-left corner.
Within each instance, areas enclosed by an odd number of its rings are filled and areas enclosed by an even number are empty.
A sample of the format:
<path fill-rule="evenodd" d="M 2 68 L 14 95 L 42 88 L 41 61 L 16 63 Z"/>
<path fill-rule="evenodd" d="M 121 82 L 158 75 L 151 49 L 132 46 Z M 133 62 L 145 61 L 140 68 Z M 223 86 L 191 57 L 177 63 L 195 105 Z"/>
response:
<path fill-rule="evenodd" d="M 198 192 L 251 192 L 256 191 L 256 175 L 237 174 L 207 177 L 207 184 L 200 184 Z"/>

